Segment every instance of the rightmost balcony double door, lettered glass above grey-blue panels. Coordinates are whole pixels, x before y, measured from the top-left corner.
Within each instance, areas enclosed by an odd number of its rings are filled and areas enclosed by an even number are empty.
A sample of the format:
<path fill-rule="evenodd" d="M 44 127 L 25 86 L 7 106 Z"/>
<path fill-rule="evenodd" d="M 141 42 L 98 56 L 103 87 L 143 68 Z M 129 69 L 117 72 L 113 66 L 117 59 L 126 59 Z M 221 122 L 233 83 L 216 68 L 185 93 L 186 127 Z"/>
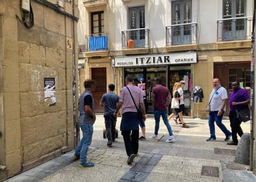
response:
<path fill-rule="evenodd" d="M 246 39 L 246 19 L 233 19 L 245 17 L 246 0 L 223 0 L 222 41 Z M 232 18 L 232 19 L 231 19 Z"/>

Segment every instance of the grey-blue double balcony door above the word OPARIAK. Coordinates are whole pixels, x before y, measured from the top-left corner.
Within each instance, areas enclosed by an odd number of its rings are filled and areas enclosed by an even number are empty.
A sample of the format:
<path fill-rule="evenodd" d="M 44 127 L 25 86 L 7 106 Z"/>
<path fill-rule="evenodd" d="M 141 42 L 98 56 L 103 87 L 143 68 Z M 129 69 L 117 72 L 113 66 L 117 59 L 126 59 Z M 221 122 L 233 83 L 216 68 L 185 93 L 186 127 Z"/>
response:
<path fill-rule="evenodd" d="M 171 32 L 173 45 L 186 45 L 191 43 L 191 25 L 184 25 L 192 22 L 191 17 L 191 0 L 173 1 L 172 25 L 177 25 L 173 26 Z"/>

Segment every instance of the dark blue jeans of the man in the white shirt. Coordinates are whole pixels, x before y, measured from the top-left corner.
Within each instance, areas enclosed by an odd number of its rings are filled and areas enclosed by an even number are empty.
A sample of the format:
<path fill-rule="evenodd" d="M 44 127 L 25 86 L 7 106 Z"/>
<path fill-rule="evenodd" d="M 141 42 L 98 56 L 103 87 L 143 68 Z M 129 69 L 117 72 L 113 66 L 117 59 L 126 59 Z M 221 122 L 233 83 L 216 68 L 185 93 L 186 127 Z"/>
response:
<path fill-rule="evenodd" d="M 229 132 L 229 130 L 226 128 L 226 126 L 223 125 L 223 123 L 222 123 L 223 114 L 221 116 L 217 116 L 217 114 L 218 114 L 218 111 L 209 112 L 209 122 L 208 123 L 209 123 L 209 130 L 210 130 L 211 137 L 216 138 L 214 121 L 216 122 L 217 126 L 219 126 L 220 130 L 222 130 L 222 132 L 224 132 L 224 134 L 226 136 L 230 136 L 231 132 Z"/>

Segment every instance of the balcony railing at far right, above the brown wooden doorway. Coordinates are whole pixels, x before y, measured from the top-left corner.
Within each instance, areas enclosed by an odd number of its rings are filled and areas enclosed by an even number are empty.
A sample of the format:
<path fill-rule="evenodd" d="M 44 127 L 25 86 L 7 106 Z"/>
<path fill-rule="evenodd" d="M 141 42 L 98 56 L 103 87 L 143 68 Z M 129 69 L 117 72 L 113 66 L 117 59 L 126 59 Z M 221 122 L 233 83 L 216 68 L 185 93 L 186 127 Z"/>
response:
<path fill-rule="evenodd" d="M 253 17 L 235 17 L 217 20 L 217 41 L 251 39 Z"/>

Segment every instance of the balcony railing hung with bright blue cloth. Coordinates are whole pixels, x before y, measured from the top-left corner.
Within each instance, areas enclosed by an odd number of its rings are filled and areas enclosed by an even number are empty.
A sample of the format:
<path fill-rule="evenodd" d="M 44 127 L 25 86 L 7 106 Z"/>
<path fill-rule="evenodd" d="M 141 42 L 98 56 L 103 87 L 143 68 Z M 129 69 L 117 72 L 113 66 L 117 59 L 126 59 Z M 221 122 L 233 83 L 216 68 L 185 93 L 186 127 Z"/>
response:
<path fill-rule="evenodd" d="M 79 52 L 109 50 L 109 37 L 105 33 L 85 35 L 85 43 L 79 45 Z"/>

